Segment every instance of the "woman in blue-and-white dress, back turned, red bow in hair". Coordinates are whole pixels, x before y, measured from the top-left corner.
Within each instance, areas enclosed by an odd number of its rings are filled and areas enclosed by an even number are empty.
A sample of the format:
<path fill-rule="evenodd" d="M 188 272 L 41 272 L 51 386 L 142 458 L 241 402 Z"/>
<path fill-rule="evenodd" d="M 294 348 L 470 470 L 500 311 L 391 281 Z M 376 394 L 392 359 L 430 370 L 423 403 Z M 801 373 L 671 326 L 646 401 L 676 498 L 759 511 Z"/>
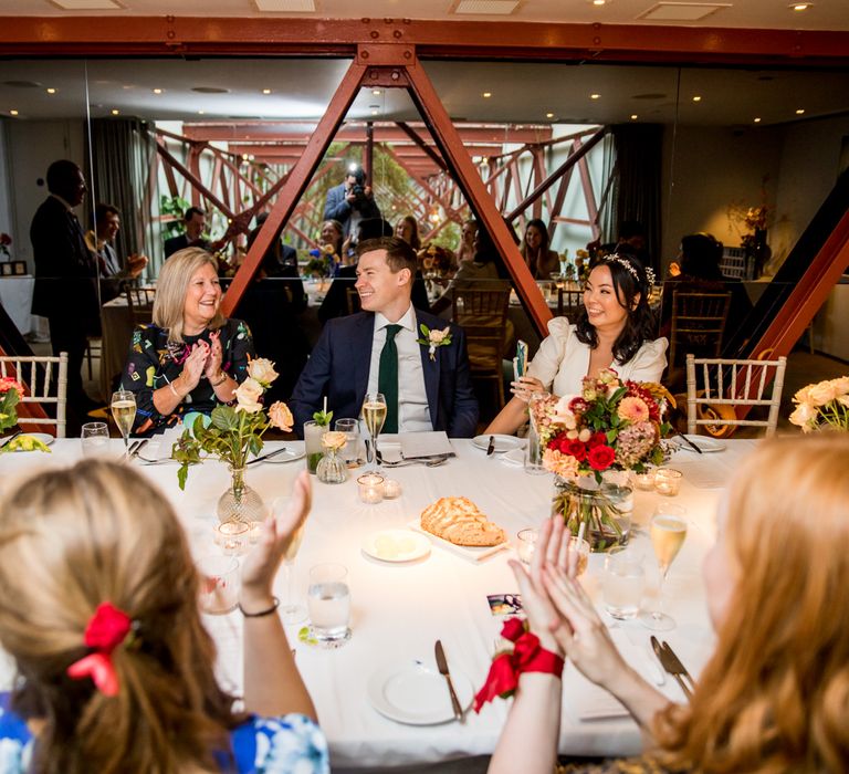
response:
<path fill-rule="evenodd" d="M 306 473 L 241 562 L 244 698 L 221 688 L 201 578 L 168 500 L 127 466 L 39 472 L 0 503 L 6 774 L 329 771 L 275 615 L 274 577 L 310 511 Z"/>

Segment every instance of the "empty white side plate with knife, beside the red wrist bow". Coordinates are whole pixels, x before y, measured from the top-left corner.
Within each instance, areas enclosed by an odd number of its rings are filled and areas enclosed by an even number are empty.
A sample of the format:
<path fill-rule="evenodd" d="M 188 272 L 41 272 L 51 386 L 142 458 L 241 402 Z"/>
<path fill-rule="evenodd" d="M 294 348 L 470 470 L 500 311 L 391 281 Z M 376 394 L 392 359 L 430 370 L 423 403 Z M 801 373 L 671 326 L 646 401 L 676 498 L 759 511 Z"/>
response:
<path fill-rule="evenodd" d="M 472 703 L 474 688 L 457 667 L 451 667 L 460 707 Z M 381 715 L 408 725 L 437 725 L 454 720 L 448 682 L 439 671 L 424 663 L 407 661 L 387 665 L 369 679 L 368 700 Z"/>

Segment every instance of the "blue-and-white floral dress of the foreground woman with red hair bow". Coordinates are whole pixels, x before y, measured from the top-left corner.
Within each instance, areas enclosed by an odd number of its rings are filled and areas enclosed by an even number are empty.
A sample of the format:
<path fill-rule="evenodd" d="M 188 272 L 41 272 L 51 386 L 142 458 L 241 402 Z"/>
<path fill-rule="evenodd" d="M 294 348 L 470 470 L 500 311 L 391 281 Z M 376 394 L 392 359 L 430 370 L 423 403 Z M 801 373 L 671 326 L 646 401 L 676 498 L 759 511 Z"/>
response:
<path fill-rule="evenodd" d="M 9 693 L 0 693 L 0 774 L 25 774 L 32 763 L 34 743 L 27 723 L 9 709 Z M 314 721 L 301 714 L 251 715 L 230 732 L 230 746 L 228 752 L 216 753 L 222 772 L 326 774 L 331 771 L 327 740 Z"/>

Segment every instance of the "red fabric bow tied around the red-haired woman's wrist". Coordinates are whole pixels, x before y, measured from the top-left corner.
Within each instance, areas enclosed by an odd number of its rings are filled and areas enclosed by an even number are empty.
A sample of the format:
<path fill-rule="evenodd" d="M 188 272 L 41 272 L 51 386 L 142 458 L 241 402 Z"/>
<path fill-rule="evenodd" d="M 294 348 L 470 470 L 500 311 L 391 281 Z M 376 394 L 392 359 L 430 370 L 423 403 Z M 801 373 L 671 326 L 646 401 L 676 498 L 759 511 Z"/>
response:
<path fill-rule="evenodd" d="M 545 672 L 547 674 L 560 674 L 564 660 L 539 647 L 539 638 L 525 629 L 525 624 L 520 618 L 509 618 L 504 621 L 501 636 L 515 644 L 512 652 L 499 653 L 492 661 L 490 673 L 483 688 L 474 697 L 474 711 L 495 697 L 509 699 L 518 686 L 518 676 L 522 672 Z"/>

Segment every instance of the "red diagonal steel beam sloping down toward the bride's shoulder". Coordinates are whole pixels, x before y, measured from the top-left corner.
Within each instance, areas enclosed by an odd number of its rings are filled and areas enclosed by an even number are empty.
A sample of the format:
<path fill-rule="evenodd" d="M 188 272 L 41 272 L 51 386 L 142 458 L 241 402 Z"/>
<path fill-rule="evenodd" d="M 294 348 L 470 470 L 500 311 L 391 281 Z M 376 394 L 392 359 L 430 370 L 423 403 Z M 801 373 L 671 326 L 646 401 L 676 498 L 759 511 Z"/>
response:
<path fill-rule="evenodd" d="M 411 84 L 410 96 L 428 123 L 430 134 L 439 146 L 442 158 L 449 165 L 451 176 L 463 188 L 467 200 L 483 220 L 484 228 L 492 237 L 513 276 L 516 291 L 524 301 L 531 320 L 536 330 L 542 333 L 552 318 L 552 311 L 539 293 L 531 270 L 513 241 L 513 236 L 504 223 L 501 212 L 496 209 L 495 202 L 486 191 L 471 157 L 465 151 L 462 139 L 451 123 L 451 117 L 446 112 L 423 67 L 415 60 L 407 67 L 407 75 Z"/>

